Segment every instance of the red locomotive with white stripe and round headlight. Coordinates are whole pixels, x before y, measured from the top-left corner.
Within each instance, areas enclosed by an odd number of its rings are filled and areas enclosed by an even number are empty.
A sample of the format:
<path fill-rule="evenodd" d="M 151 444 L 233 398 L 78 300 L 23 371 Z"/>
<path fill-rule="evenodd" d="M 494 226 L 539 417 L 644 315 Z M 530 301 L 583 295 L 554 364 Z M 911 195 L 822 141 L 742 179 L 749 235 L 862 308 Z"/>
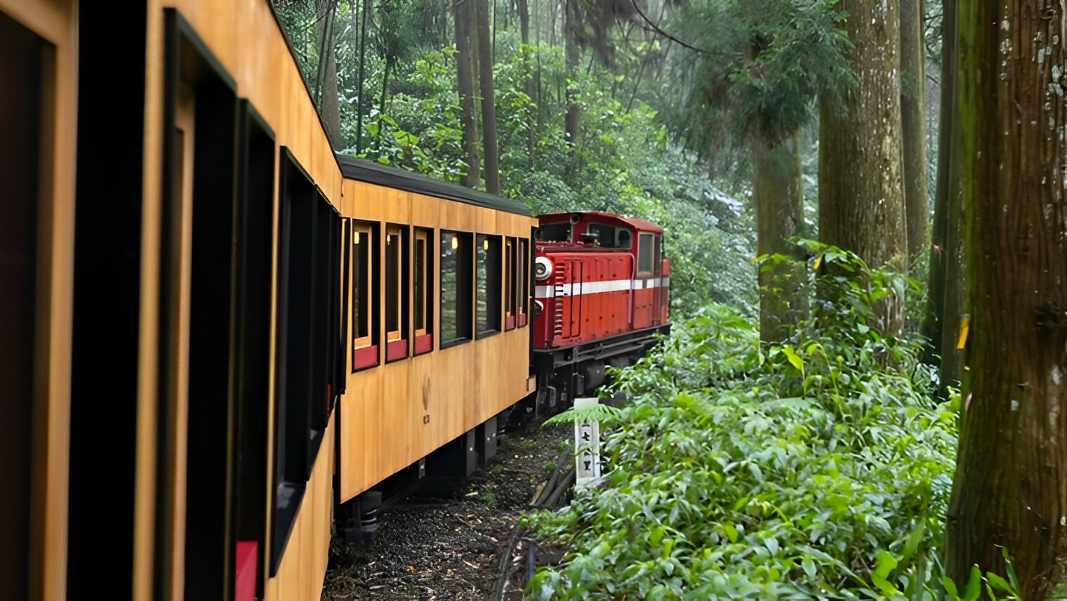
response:
<path fill-rule="evenodd" d="M 539 217 L 535 234 L 534 407 L 553 413 L 635 362 L 668 333 L 670 262 L 663 228 L 586 211 Z"/>

